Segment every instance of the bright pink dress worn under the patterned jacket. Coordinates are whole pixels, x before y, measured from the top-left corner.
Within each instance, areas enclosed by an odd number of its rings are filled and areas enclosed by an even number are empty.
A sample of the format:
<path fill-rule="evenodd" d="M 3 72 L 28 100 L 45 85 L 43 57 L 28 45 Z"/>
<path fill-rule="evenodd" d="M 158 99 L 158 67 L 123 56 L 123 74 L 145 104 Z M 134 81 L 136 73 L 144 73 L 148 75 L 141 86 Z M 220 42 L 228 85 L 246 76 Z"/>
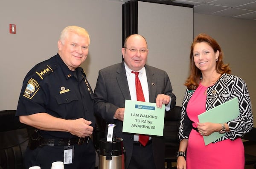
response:
<path fill-rule="evenodd" d="M 187 105 L 187 115 L 195 128 L 198 123 L 197 116 L 205 112 L 206 90 L 207 87 L 200 84 Z M 205 146 L 203 136 L 192 129 L 188 140 L 186 165 L 187 169 L 244 169 L 242 140 L 227 139 Z"/>

